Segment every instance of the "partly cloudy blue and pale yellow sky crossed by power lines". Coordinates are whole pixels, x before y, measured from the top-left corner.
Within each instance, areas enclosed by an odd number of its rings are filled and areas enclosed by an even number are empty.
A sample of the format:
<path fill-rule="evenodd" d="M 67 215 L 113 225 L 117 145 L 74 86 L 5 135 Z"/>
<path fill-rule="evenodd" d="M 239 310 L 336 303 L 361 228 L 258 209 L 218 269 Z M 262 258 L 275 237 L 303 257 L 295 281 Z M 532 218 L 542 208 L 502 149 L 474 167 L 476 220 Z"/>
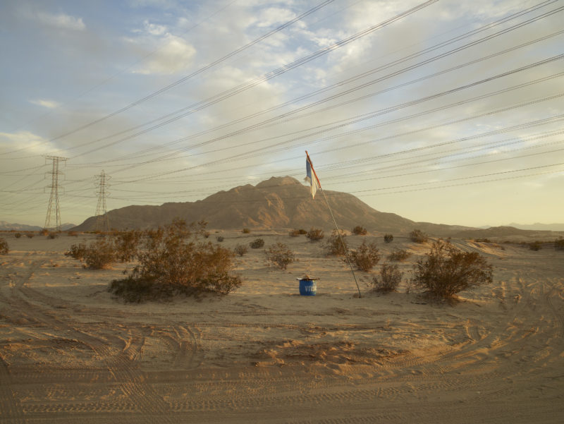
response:
<path fill-rule="evenodd" d="M 563 9 L 0 1 L 0 220 L 44 226 L 52 199 L 54 226 L 56 195 L 61 222 L 80 224 L 103 198 L 303 181 L 307 150 L 324 190 L 381 212 L 563 222 Z"/>

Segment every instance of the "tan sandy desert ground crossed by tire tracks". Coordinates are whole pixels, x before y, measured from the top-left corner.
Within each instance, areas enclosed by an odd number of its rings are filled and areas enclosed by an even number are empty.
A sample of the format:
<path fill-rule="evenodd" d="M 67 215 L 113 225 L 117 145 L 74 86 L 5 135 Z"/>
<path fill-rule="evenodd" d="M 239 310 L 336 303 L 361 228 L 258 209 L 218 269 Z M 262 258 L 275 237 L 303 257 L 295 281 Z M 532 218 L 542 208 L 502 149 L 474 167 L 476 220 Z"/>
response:
<path fill-rule="evenodd" d="M 250 249 L 226 297 L 127 305 L 106 291 L 126 265 L 63 255 L 92 236 L 4 234 L 0 423 L 564 422 L 564 252 L 455 241 L 489 258 L 494 284 L 448 305 L 406 284 L 367 293 L 363 272 L 356 298 L 344 263 L 304 236 L 221 235 L 289 243 L 299 261 L 271 270 Z M 367 238 L 410 250 L 405 277 L 428 249 Z M 317 296 L 299 296 L 305 272 Z"/>

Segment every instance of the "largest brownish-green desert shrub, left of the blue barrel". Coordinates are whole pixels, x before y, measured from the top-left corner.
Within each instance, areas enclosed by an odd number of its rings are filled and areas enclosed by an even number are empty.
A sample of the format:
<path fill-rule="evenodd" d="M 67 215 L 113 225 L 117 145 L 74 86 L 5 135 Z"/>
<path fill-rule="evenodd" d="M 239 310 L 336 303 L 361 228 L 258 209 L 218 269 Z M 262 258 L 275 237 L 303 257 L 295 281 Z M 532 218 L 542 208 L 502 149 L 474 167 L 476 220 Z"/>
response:
<path fill-rule="evenodd" d="M 200 241 L 203 226 L 202 222 L 188 226 L 175 220 L 144 231 L 137 251 L 139 265 L 127 278 L 112 281 L 109 291 L 126 301 L 143 301 L 177 294 L 227 294 L 237 289 L 241 279 L 230 274 L 233 252 Z"/>

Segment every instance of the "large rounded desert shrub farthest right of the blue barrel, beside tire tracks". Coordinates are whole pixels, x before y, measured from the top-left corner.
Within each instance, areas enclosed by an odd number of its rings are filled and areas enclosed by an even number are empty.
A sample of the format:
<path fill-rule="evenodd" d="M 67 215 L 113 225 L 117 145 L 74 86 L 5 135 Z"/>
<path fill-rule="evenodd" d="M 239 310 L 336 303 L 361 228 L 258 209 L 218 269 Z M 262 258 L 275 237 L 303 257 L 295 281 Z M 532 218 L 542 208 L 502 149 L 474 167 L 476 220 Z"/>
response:
<path fill-rule="evenodd" d="M 431 297 L 455 298 L 460 291 L 493 281 L 492 266 L 477 252 L 462 252 L 448 241 L 435 241 L 414 265 L 414 286 Z"/>

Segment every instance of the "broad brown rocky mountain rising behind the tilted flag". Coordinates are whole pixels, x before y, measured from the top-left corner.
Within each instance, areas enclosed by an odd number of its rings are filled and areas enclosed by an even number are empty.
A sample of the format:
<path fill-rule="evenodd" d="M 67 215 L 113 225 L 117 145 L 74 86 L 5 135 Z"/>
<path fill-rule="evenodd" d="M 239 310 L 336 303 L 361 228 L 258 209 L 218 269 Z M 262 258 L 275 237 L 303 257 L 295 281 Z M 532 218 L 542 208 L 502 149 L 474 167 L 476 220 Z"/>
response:
<path fill-rule="evenodd" d="M 362 225 L 371 232 L 406 233 L 419 228 L 436 236 L 448 236 L 455 231 L 471 229 L 418 223 L 398 214 L 379 212 L 354 195 L 325 191 L 338 226 L 352 229 Z M 144 229 L 168 224 L 174 218 L 186 222 L 205 220 L 210 229 L 293 229 L 334 228 L 333 219 L 322 193 L 312 200 L 309 188 L 295 178 L 272 177 L 227 191 L 219 191 L 197 202 L 171 202 L 160 206 L 128 206 L 108 212 L 110 226 L 115 229 Z M 91 231 L 96 218 L 90 217 L 75 227 L 77 231 Z"/>

